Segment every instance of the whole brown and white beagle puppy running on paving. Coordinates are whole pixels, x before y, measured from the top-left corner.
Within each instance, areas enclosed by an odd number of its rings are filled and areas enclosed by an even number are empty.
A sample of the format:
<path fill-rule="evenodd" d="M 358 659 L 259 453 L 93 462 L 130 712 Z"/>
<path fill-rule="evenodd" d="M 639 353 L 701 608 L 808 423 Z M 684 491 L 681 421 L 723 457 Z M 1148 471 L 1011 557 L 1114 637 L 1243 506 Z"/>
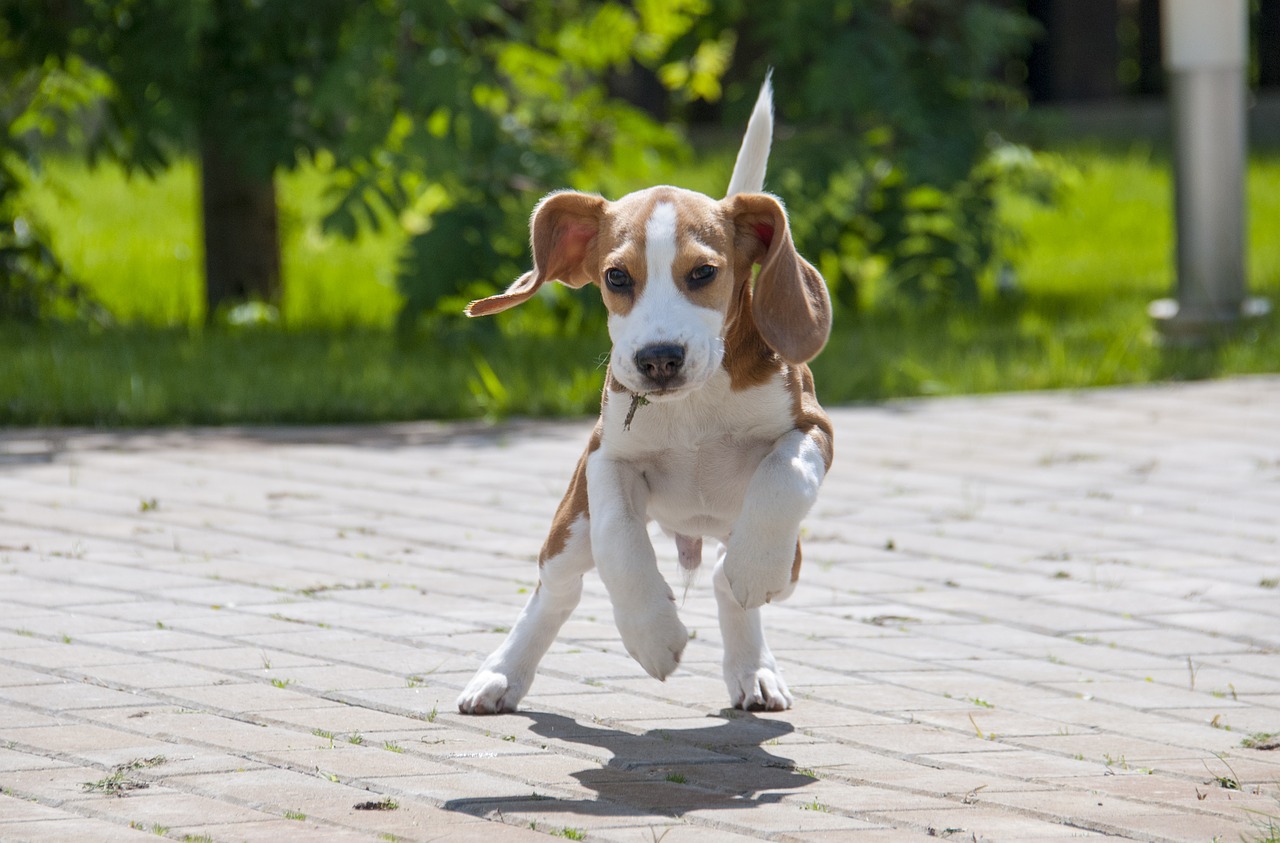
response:
<path fill-rule="evenodd" d="M 831 303 L 796 253 L 782 205 L 759 192 L 772 113 L 767 79 L 724 200 L 672 187 L 616 202 L 545 197 L 530 224 L 534 269 L 467 308 L 513 307 L 552 279 L 596 284 L 613 349 L 600 420 L 543 545 L 538 588 L 458 697 L 461 711 L 516 709 L 593 565 L 627 652 L 650 675 L 671 675 L 689 633 L 649 521 L 675 536 L 686 569 L 700 563 L 704 536 L 722 545 L 712 579 L 731 702 L 791 706 L 760 606 L 794 590 L 800 519 L 831 467 L 831 422 L 805 365 L 827 342 Z"/>

